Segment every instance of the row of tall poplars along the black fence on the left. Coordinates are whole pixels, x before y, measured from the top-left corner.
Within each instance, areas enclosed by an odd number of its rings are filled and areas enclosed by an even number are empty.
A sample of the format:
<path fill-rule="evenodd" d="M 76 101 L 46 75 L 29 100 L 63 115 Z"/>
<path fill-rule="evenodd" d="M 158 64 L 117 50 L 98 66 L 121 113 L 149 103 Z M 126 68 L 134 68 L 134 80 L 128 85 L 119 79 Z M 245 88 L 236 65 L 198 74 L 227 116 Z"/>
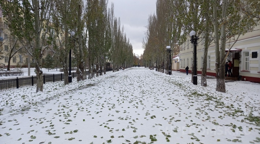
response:
<path fill-rule="evenodd" d="M 132 44 L 120 18 L 114 16 L 113 3 L 111 8 L 107 8 L 107 3 L 108 0 L 0 1 L 11 37 L 35 59 L 36 92 L 43 91 L 42 60 L 47 53 L 62 65 L 65 85 L 70 50 L 77 65 L 77 81 L 84 80 L 84 63 L 89 67 L 89 79 L 94 72 L 97 76 L 99 71 L 105 73 L 108 61 L 113 64 L 113 71 L 122 65 L 132 66 Z"/>

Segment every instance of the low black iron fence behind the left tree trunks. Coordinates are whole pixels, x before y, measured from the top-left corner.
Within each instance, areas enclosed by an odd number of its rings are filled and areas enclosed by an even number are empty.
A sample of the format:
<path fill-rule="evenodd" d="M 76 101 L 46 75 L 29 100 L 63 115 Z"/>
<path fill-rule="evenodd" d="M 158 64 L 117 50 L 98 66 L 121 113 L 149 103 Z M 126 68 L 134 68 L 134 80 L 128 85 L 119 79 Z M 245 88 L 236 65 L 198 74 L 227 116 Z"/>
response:
<path fill-rule="evenodd" d="M 88 74 L 88 73 L 87 73 Z M 77 77 L 77 73 L 71 73 L 72 78 Z M 64 80 L 64 73 L 60 74 L 43 74 L 43 83 L 46 82 L 58 82 Z M 22 88 L 27 86 L 33 86 L 37 83 L 36 76 L 16 79 L 0 80 L 0 91 L 7 91 L 15 88 Z"/>

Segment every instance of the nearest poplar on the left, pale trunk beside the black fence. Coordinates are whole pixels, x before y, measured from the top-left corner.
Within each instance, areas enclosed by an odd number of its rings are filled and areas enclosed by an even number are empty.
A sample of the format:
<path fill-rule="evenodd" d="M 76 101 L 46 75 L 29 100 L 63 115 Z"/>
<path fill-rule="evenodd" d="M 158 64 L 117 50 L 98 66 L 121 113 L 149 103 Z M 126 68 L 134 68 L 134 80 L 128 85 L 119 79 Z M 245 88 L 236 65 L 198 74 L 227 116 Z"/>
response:
<path fill-rule="evenodd" d="M 47 47 L 43 44 L 46 41 L 53 1 L 5 0 L 0 1 L 0 5 L 10 32 L 28 44 L 24 47 L 35 59 L 36 92 L 43 91 L 42 58 Z"/>

